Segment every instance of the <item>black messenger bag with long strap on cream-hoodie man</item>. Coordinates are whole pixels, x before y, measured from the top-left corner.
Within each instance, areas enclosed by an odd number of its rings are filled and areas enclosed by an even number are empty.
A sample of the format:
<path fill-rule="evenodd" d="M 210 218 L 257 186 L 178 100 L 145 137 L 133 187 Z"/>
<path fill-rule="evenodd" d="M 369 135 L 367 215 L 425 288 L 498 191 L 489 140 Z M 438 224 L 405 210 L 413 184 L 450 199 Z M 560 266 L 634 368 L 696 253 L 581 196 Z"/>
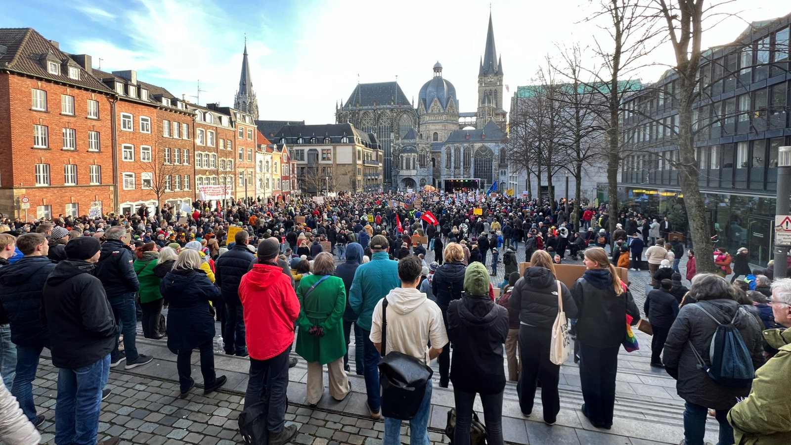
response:
<path fill-rule="evenodd" d="M 392 419 L 412 420 L 418 413 L 426 384 L 433 370 L 413 356 L 398 351 L 384 355 L 387 348 L 388 299 L 382 302 L 382 347 L 383 357 L 379 360 L 379 384 L 381 386 L 382 415 Z"/>

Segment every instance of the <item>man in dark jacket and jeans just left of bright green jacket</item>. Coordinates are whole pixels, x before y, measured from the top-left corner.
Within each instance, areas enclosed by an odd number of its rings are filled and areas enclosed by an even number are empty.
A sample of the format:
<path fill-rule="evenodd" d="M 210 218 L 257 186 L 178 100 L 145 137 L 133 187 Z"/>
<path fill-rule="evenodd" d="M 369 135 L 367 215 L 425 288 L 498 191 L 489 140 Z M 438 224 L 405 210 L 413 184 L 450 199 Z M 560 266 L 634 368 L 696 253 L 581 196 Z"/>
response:
<path fill-rule="evenodd" d="M 123 226 L 112 226 L 104 232 L 107 241 L 101 246 L 96 277 L 104 286 L 104 292 L 115 316 L 115 324 L 120 324 L 123 329 L 123 352 L 118 350 L 119 333 L 116 333 L 110 367 L 116 367 L 126 359 L 127 364 L 124 369 L 132 369 L 149 363 L 153 357 L 138 354 L 135 342 L 138 323 L 134 294 L 140 288 L 140 283 L 132 266 L 134 262 L 132 249 L 122 241 L 126 234 L 127 229 Z"/>

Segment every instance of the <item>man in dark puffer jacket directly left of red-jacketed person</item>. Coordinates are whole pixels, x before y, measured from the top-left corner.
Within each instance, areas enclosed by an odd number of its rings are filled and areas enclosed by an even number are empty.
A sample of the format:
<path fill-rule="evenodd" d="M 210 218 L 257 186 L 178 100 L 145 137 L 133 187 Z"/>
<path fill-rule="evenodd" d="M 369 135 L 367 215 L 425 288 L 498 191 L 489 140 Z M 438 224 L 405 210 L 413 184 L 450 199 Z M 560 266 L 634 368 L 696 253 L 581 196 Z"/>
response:
<path fill-rule="evenodd" d="M 244 357 L 248 353 L 244 343 L 244 317 L 239 302 L 239 283 L 255 257 L 248 249 L 250 235 L 247 231 L 239 230 L 233 239 L 236 242 L 233 249 L 223 253 L 214 262 L 214 284 L 220 287 L 225 306 L 222 326 L 225 354 Z"/>

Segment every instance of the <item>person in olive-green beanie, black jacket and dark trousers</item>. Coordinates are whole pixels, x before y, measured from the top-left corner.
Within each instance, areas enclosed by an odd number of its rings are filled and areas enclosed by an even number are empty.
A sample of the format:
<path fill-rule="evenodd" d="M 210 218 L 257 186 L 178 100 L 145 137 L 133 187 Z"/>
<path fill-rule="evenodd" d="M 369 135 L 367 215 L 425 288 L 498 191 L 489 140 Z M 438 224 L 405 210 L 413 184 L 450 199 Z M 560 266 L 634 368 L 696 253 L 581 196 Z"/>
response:
<path fill-rule="evenodd" d="M 464 273 L 464 297 L 448 306 L 448 338 L 456 344 L 450 378 L 456 400 L 454 443 L 469 445 L 472 405 L 480 394 L 487 441 L 502 444 L 502 344 L 508 336 L 508 310 L 489 299 L 489 273 L 482 263 Z"/>

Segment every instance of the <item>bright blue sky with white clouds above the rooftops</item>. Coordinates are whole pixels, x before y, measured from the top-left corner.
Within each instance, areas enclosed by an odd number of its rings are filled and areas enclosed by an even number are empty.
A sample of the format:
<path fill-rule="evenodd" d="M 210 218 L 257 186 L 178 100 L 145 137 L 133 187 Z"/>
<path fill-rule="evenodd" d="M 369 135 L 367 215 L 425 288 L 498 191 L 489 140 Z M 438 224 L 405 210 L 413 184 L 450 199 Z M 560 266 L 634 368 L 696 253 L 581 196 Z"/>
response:
<path fill-rule="evenodd" d="M 142 81 L 187 100 L 195 101 L 200 80 L 200 103 L 221 105 L 233 105 L 246 33 L 259 116 L 325 124 L 358 80 L 398 76 L 412 99 L 437 60 L 461 111 L 475 111 L 490 5 L 506 97 L 531 84 L 558 46 L 602 37 L 585 22 L 597 5 L 587 0 L 27 0 L 6 6 L 0 26 L 35 28 L 63 51 L 93 55 L 94 67 L 138 70 Z M 791 13 L 791 4 L 736 0 L 721 11 L 735 16 L 710 22 L 705 47 L 731 42 L 749 21 Z M 660 48 L 652 59 L 656 66 L 634 75 L 656 80 L 672 53 Z"/>

